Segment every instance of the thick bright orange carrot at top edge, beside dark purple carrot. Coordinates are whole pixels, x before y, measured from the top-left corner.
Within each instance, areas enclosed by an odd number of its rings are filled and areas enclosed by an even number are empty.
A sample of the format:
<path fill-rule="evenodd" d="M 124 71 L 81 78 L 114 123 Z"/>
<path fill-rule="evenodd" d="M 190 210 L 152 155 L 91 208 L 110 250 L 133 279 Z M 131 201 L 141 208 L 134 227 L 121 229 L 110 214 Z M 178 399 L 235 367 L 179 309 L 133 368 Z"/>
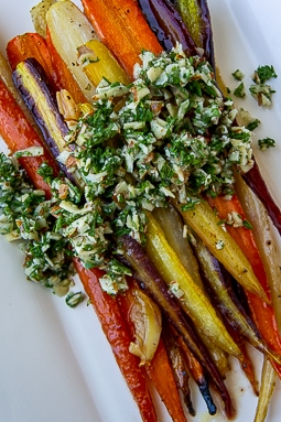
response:
<path fill-rule="evenodd" d="M 132 76 L 142 50 L 155 54 L 162 46 L 134 0 L 82 0 L 84 12 L 100 40 Z"/>

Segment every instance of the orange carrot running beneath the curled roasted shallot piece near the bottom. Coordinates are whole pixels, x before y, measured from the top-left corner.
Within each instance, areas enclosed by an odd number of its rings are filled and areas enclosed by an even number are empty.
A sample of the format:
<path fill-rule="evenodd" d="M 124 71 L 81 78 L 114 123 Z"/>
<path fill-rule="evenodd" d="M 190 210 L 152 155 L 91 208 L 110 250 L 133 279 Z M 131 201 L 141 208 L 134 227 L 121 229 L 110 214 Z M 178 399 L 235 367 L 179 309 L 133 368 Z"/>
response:
<path fill-rule="evenodd" d="M 133 337 L 133 326 L 129 317 L 130 306 L 133 301 L 132 285 L 133 289 L 139 289 L 137 283 L 130 282 L 129 289 L 118 296 L 118 301 L 128 323 L 131 336 Z M 153 359 L 150 364 L 144 365 L 144 369 L 166 407 L 173 422 L 186 422 L 173 369 L 170 365 L 169 355 L 162 339 L 160 339 Z"/>

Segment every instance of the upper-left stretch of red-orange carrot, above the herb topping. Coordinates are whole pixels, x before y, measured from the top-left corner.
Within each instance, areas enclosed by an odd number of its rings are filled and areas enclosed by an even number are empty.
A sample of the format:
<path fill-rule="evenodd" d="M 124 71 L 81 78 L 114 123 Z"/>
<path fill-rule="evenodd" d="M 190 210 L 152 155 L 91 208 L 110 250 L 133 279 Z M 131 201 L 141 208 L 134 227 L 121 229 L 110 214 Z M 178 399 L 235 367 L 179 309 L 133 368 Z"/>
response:
<path fill-rule="evenodd" d="M 30 147 L 44 148 L 43 155 L 22 156 L 19 161 L 35 187 L 45 191 L 46 197 L 50 198 L 51 188 L 37 174 L 37 170 L 44 162 L 47 162 L 55 171 L 57 171 L 57 165 L 1 78 L 0 134 L 12 153 Z"/>

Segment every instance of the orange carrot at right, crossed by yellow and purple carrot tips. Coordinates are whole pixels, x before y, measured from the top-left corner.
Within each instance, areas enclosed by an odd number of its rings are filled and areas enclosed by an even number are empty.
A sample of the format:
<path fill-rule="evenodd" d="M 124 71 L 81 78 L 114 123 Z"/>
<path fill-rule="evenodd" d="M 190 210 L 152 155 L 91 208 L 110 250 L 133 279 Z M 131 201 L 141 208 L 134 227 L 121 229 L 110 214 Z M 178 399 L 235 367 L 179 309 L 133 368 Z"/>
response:
<path fill-rule="evenodd" d="M 228 214 L 231 212 L 238 213 L 242 220 L 246 219 L 241 204 L 236 195 L 234 195 L 230 201 L 225 201 L 220 196 L 217 196 L 216 198 L 208 198 L 208 203 L 217 210 L 218 216 L 221 219 L 227 219 Z M 251 263 L 253 272 L 260 281 L 260 284 L 270 299 L 266 271 L 251 230 L 246 227 L 233 227 L 228 225 L 226 225 L 226 228 L 242 249 L 245 256 Z M 278 331 L 273 307 L 270 304 L 266 304 L 252 293 L 246 292 L 246 294 L 252 313 L 252 318 L 260 331 L 261 336 L 275 353 L 281 354 L 281 337 Z M 281 365 L 277 365 L 272 361 L 272 366 L 277 370 L 278 376 L 281 378 Z"/>

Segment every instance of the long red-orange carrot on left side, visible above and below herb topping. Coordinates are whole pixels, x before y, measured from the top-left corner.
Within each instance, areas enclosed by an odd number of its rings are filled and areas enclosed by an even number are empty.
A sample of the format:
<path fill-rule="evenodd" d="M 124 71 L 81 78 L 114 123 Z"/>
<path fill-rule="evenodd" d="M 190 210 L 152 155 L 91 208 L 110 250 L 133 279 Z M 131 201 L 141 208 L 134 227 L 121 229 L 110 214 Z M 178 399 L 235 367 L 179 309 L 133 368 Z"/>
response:
<path fill-rule="evenodd" d="M 37 188 L 44 190 L 46 196 L 51 197 L 51 188 L 37 174 L 37 170 L 43 162 L 47 162 L 51 167 L 56 170 L 55 161 L 1 79 L 0 134 L 11 152 L 34 145 L 43 148 L 43 155 L 21 158 L 20 161 L 33 184 Z M 86 270 L 77 259 L 74 263 L 85 285 L 85 291 L 95 305 L 123 377 L 139 405 L 143 422 L 155 422 L 156 414 L 147 387 L 145 376 L 139 367 L 138 358 L 129 353 L 130 336 L 117 301 L 101 291 L 98 275 L 94 271 Z M 98 274 L 100 275 L 100 273 L 99 271 Z"/>

